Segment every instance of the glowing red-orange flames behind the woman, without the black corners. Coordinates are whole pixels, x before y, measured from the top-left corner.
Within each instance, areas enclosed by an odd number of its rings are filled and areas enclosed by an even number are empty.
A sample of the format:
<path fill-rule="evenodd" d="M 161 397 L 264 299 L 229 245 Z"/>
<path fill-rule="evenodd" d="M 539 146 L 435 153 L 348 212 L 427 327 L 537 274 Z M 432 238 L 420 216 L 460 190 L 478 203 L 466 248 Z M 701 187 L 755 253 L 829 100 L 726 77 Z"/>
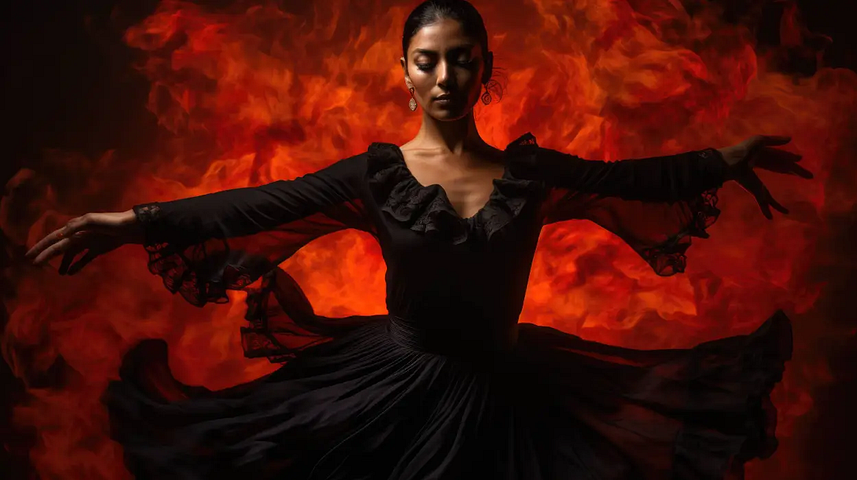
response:
<path fill-rule="evenodd" d="M 212 11 L 164 1 L 125 33 L 143 54 L 148 108 L 169 135 L 135 163 L 139 172 L 116 209 L 293 178 L 372 141 L 403 143 L 416 132 L 419 112 L 407 108 L 398 64 L 401 25 L 413 5 L 364 2 L 355 12 L 344 0 L 295 3 L 292 11 L 274 2 Z M 810 459 L 795 423 L 813 408 L 813 390 L 832 381 L 812 342 L 836 334 L 814 309 L 823 285 L 811 269 L 829 261 L 818 253 L 822 219 L 857 200 L 853 189 L 828 182 L 834 163 L 854 155 L 854 143 L 841 139 L 854 124 L 857 75 L 777 73 L 770 59 L 780 50 L 754 49 L 751 30 L 726 24 L 708 3 L 693 15 L 676 1 L 476 3 L 507 77 L 503 100 L 477 107 L 494 145 L 532 131 L 542 146 L 616 160 L 725 146 L 756 133 L 793 137 L 788 148 L 803 154 L 816 181 L 764 178 L 791 215 L 768 222 L 749 195 L 726 186 L 712 238 L 695 241 L 686 274 L 669 278 L 594 225 L 552 225 L 542 234 L 521 320 L 610 344 L 669 348 L 748 333 L 785 309 L 796 345 L 774 392 L 781 446 L 748 465 L 748 478 L 807 478 Z M 789 7 L 783 17 L 781 49 L 806 36 L 795 12 Z M 70 218 L 69 204 L 48 185 L 63 183 L 67 170 L 110 172 L 118 168 L 111 158 L 69 156 L 55 171 L 20 172 L 7 186 L 3 231 L 32 245 Z M 854 175 L 852 166 L 836 168 Z M 82 187 L 83 198 L 99 198 L 92 193 L 109 181 L 101 175 Z M 22 185 L 41 188 L 41 198 L 16 203 Z M 10 206 L 22 203 L 41 218 L 22 224 Z M 86 207 L 105 209 L 95 200 Z M 72 278 L 55 269 L 11 273 L 16 296 L 7 302 L 2 351 L 28 386 L 14 423 L 37 429 L 30 456 L 43 478 L 127 476 L 98 399 L 122 353 L 143 338 L 165 338 L 175 375 L 191 384 L 222 388 L 275 368 L 242 355 L 243 293 L 233 292 L 229 305 L 197 309 L 169 296 L 146 270 L 141 248 L 108 258 Z M 321 314 L 384 311 L 383 261 L 368 235 L 325 237 L 283 267 Z M 46 380 L 52 375 L 60 378 Z"/>

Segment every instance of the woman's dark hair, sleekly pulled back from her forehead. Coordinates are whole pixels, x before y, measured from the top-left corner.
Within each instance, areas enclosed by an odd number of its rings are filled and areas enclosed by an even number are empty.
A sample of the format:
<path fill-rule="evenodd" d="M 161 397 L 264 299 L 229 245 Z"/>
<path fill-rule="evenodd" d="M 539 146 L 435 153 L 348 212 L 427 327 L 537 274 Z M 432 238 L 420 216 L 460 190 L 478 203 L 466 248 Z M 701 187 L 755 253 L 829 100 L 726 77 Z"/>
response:
<path fill-rule="evenodd" d="M 408 61 L 408 45 L 411 43 L 411 38 L 423 27 L 444 18 L 460 23 L 464 33 L 475 38 L 482 46 L 482 57 L 488 57 L 488 31 L 476 7 L 466 0 L 427 0 L 419 4 L 405 20 L 405 28 L 402 32 L 402 55 L 405 57 L 405 63 Z M 494 71 L 496 70 L 498 69 L 495 68 Z M 491 72 L 491 77 L 494 76 L 494 71 Z M 496 80 L 489 80 L 486 88 L 494 92 L 498 98 L 503 94 L 503 88 Z"/>

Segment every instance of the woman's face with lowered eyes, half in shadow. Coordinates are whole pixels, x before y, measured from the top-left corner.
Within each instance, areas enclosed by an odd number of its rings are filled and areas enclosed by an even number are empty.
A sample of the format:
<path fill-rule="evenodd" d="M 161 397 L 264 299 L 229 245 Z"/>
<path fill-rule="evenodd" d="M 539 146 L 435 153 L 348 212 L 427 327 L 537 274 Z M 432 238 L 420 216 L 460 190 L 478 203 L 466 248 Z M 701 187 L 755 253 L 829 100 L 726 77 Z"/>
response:
<path fill-rule="evenodd" d="M 479 43 L 464 34 L 455 20 L 441 19 L 421 28 L 401 59 L 405 84 L 423 110 L 442 121 L 470 113 L 490 78 L 491 58 L 483 58 Z"/>

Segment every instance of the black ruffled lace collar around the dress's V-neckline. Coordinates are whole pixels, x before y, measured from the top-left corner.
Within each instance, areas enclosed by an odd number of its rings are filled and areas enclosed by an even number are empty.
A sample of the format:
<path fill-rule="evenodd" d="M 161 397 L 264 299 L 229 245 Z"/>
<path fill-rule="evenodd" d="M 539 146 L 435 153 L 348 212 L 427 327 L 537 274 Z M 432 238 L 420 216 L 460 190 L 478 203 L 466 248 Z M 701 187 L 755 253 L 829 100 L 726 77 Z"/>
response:
<path fill-rule="evenodd" d="M 488 202 L 475 215 L 462 218 L 438 184 L 422 185 L 405 164 L 402 151 L 391 143 L 375 142 L 368 150 L 368 183 L 375 202 L 395 221 L 413 231 L 445 238 L 453 244 L 471 236 L 487 240 L 508 225 L 540 191 L 540 183 L 515 178 L 513 161 L 532 161 L 538 145 L 531 133 L 522 135 L 505 149 L 503 177 L 494 180 Z"/>

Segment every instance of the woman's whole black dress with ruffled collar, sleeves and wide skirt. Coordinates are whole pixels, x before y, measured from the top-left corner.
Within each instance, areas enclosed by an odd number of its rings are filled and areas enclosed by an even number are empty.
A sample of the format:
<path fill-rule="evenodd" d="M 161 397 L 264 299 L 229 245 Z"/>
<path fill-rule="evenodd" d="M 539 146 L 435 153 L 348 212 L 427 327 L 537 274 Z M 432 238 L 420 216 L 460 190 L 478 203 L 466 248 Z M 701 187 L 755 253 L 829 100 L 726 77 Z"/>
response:
<path fill-rule="evenodd" d="M 105 393 L 145 479 L 742 478 L 776 449 L 769 393 L 791 356 L 777 312 L 750 335 L 633 350 L 518 323 L 542 225 L 589 219 L 661 275 L 719 214 L 714 149 L 600 162 L 527 134 L 488 203 L 461 218 L 375 143 L 318 172 L 135 207 L 149 268 L 195 305 L 246 288 L 247 356 L 285 362 L 226 390 L 176 381 L 166 345 L 125 357 Z M 314 314 L 277 265 L 321 235 L 371 233 L 389 314 Z"/>

